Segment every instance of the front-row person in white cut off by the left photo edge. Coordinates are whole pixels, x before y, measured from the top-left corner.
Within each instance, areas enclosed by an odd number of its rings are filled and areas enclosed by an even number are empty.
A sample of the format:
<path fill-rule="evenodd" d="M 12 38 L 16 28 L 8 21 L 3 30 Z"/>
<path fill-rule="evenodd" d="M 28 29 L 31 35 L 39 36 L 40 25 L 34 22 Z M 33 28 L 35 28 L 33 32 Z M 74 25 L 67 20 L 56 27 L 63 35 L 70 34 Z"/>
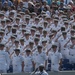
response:
<path fill-rule="evenodd" d="M 9 55 L 4 51 L 4 44 L 0 43 L 0 73 L 6 73 L 9 69 L 9 65 Z"/>

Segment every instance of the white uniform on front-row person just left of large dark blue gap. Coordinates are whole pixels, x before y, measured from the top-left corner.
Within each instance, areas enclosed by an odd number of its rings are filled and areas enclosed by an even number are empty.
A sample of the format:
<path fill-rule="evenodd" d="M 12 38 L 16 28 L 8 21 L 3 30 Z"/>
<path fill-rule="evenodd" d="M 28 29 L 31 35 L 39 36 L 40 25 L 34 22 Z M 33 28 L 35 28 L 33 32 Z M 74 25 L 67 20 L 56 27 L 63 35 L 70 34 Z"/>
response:
<path fill-rule="evenodd" d="M 59 61 L 62 59 L 62 54 L 58 51 L 50 52 L 48 58 L 51 60 L 51 71 L 59 71 Z"/>

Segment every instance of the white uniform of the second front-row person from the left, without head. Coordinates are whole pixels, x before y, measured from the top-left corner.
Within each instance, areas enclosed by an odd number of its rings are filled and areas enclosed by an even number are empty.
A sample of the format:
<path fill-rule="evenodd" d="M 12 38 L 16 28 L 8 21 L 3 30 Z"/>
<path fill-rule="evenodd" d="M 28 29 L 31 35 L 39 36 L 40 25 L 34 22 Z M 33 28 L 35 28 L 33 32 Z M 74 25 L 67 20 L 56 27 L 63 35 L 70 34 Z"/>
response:
<path fill-rule="evenodd" d="M 13 65 L 13 73 L 22 72 L 22 62 L 24 61 L 23 57 L 20 54 L 18 56 L 14 54 L 11 60 Z"/>

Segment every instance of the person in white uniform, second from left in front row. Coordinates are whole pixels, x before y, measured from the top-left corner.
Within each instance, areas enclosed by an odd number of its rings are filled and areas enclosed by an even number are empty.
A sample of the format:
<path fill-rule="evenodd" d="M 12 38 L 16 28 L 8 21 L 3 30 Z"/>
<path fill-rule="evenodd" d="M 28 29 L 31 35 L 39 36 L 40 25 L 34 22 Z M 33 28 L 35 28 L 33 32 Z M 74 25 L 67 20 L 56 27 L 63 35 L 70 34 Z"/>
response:
<path fill-rule="evenodd" d="M 15 54 L 11 57 L 13 65 L 13 73 L 24 72 L 24 60 L 20 55 L 20 49 L 15 49 Z"/>

